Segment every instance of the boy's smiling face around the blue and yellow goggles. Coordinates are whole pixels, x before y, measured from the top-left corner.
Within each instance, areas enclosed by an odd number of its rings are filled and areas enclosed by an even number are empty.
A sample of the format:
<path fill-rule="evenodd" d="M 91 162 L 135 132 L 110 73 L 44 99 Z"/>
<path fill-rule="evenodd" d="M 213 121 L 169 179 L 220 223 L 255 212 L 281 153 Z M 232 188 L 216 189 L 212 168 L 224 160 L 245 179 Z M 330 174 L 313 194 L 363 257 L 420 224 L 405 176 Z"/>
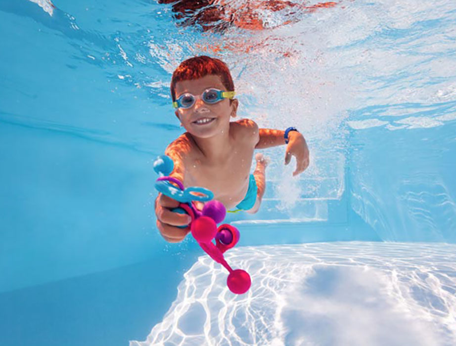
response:
<path fill-rule="evenodd" d="M 209 88 L 231 91 L 226 90 L 219 76 L 207 75 L 200 79 L 176 83 L 176 99 L 185 92 L 201 96 L 203 91 Z M 196 137 L 208 138 L 227 130 L 229 117 L 236 116 L 237 105 L 236 99 L 231 101 L 231 105 L 228 98 L 214 104 L 207 104 L 198 97 L 190 108 L 178 108 L 176 116 L 189 133 Z"/>

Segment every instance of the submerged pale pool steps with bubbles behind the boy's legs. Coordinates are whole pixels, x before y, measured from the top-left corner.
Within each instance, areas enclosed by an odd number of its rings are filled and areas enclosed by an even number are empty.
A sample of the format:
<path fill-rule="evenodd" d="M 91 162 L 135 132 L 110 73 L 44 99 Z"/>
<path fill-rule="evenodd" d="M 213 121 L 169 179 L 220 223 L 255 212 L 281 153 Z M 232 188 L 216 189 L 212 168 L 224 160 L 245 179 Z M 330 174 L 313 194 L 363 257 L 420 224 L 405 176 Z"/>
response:
<path fill-rule="evenodd" d="M 269 155 L 278 163 L 282 152 L 275 150 Z M 331 150 L 316 155 L 311 167 L 298 177 L 292 176 L 294 163 L 273 164 L 267 170 L 260 211 L 230 215 L 228 219 L 233 224 L 327 221 L 328 202 L 341 200 L 345 190 L 344 167 L 345 157 Z"/>

